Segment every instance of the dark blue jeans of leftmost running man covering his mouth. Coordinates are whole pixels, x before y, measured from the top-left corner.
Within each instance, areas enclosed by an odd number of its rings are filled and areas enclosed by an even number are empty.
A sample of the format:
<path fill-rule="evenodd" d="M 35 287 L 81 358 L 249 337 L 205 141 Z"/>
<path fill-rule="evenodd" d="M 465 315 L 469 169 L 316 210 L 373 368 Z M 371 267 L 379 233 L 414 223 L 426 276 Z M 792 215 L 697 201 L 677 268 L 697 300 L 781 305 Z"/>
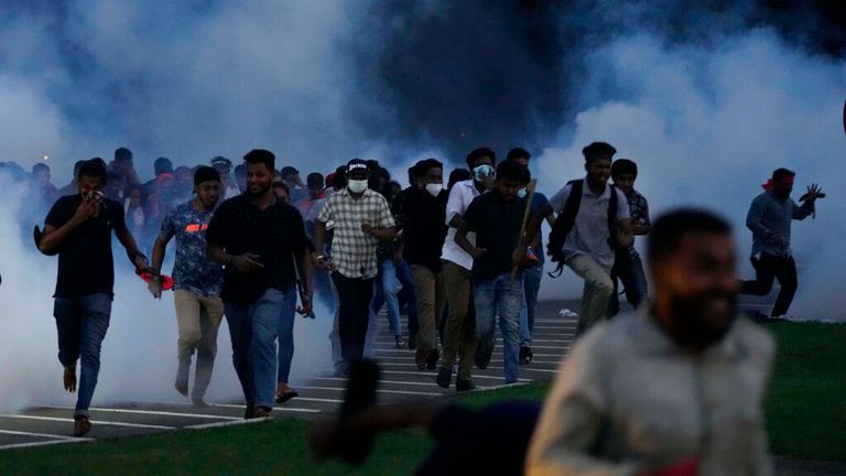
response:
<path fill-rule="evenodd" d="M 74 416 L 88 416 L 100 374 L 100 347 L 109 328 L 111 298 L 105 293 L 56 298 L 53 316 L 58 332 L 58 361 L 74 367 L 77 359 L 82 360 Z"/>

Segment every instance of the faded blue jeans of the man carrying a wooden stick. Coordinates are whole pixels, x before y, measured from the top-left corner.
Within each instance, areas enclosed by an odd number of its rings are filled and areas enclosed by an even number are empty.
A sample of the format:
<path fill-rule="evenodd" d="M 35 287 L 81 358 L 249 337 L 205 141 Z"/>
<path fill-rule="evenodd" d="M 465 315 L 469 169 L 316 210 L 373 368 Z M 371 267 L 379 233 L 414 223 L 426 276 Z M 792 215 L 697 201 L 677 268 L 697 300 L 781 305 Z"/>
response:
<path fill-rule="evenodd" d="M 473 298 L 476 303 L 477 353 L 486 364 L 490 360 L 496 345 L 496 320 L 502 332 L 506 383 L 517 381 L 518 355 L 520 351 L 520 304 L 523 302 L 523 277 L 511 273 L 494 279 L 473 281 Z"/>

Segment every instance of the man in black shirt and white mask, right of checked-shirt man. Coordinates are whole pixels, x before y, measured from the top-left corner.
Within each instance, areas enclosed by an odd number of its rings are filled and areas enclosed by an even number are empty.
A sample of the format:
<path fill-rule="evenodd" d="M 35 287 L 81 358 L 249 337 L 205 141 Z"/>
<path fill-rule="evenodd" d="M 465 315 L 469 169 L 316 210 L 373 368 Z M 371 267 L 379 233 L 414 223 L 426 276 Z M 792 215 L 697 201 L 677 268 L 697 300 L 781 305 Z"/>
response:
<path fill-rule="evenodd" d="M 405 195 L 403 256 L 411 264 L 414 278 L 420 324 L 415 361 L 417 368 L 423 370 L 430 354 L 436 353 L 437 323 L 446 306 L 441 249 L 446 238 L 446 201 L 449 194 L 444 190 L 444 165 L 441 162 L 426 159 L 415 167 L 423 188 L 411 190 Z"/>

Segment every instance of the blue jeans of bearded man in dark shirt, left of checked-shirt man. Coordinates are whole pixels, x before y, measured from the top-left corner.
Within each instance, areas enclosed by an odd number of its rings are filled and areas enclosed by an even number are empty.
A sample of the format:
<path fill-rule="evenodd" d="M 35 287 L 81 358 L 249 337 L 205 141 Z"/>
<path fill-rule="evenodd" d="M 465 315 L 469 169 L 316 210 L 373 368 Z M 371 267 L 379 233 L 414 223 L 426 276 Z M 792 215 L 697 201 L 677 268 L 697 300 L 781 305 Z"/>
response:
<path fill-rule="evenodd" d="M 250 304 L 224 303 L 232 364 L 248 403 L 273 408 L 276 390 L 276 332 L 285 293 L 269 289 Z"/>

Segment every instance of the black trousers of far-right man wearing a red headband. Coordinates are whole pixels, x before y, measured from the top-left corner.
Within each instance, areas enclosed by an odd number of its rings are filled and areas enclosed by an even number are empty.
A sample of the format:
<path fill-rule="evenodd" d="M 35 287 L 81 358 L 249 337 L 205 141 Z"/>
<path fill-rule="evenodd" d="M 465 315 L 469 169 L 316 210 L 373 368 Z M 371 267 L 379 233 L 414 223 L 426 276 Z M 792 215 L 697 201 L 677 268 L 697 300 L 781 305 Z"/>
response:
<path fill-rule="evenodd" d="M 782 316 L 788 313 L 790 303 L 796 294 L 796 263 L 792 257 L 777 257 L 762 252 L 759 259 L 750 260 L 755 268 L 755 281 L 741 281 L 741 294 L 767 295 L 772 289 L 772 280 L 779 280 L 781 290 L 772 306 L 771 316 Z"/>

